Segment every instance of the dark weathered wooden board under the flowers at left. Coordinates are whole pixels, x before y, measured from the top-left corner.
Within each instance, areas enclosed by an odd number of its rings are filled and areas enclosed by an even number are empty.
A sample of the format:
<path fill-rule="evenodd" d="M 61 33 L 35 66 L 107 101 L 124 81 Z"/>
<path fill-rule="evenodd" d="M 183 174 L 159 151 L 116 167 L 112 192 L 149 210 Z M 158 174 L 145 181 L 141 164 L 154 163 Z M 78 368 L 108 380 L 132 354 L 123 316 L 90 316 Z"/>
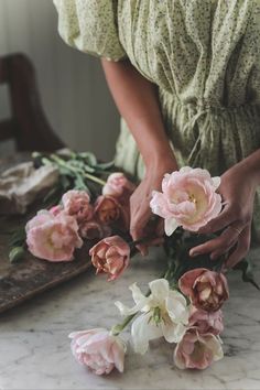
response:
<path fill-rule="evenodd" d="M 15 163 L 24 159 L 13 159 Z M 1 161 L 1 170 L 10 166 L 10 162 Z M 76 251 L 75 259 L 69 262 L 53 263 L 35 259 L 30 253 L 18 263 L 10 263 L 8 253 L 8 231 L 23 224 L 22 218 L 0 217 L 0 313 L 13 307 L 34 295 L 67 281 L 90 267 L 88 256 L 94 242 L 86 243 Z"/>

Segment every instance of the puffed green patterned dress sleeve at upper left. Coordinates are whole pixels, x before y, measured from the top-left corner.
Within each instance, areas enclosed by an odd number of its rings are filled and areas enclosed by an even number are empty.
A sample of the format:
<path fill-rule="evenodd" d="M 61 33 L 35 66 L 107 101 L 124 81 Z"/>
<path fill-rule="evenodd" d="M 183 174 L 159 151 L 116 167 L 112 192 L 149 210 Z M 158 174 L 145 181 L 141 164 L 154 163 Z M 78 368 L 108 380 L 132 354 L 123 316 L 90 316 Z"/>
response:
<path fill-rule="evenodd" d="M 58 32 L 71 46 L 110 61 L 127 54 L 119 41 L 117 0 L 53 0 Z"/>

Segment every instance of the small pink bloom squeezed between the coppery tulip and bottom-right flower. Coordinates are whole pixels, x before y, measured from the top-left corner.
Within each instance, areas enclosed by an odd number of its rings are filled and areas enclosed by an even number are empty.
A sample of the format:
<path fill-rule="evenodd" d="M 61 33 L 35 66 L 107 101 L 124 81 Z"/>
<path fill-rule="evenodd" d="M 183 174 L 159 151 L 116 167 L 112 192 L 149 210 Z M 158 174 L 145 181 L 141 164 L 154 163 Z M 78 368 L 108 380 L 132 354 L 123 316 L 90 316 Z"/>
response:
<path fill-rule="evenodd" d="M 191 305 L 188 326 L 196 327 L 201 335 L 210 333 L 217 336 L 224 331 L 223 312 L 206 312 Z"/>

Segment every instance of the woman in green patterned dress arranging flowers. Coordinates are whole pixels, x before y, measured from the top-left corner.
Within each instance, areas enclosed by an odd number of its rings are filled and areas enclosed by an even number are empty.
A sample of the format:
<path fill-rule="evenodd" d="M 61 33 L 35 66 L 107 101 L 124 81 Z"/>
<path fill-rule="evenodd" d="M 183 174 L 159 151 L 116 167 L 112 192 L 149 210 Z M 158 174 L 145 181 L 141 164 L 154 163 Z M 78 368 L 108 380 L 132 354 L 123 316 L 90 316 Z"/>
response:
<path fill-rule="evenodd" d="M 116 163 L 141 180 L 131 235 L 144 235 L 152 189 L 182 165 L 221 175 L 224 210 L 193 248 L 227 267 L 260 230 L 259 0 L 55 0 L 63 39 L 101 57 L 122 116 Z M 171 142 L 169 142 L 169 140 Z M 140 247 L 142 253 L 147 248 Z"/>

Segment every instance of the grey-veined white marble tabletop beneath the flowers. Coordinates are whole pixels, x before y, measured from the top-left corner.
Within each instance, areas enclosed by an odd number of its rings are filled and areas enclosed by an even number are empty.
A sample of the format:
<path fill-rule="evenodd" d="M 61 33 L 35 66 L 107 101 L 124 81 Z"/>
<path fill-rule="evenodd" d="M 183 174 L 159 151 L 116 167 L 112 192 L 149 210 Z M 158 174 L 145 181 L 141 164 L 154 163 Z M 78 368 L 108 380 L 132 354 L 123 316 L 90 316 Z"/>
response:
<path fill-rule="evenodd" d="M 254 251 L 259 258 L 260 250 Z M 160 275 L 160 253 L 136 258 L 124 275 L 108 283 L 94 272 L 0 316 L 0 389 L 260 389 L 260 292 L 229 277 L 230 299 L 224 307 L 226 356 L 204 371 L 182 371 L 172 365 L 172 347 L 160 342 L 145 356 L 129 350 L 123 375 L 96 377 L 73 358 L 67 335 L 120 318 L 113 301 L 132 304 L 128 286 Z M 260 282 L 260 263 L 256 272 Z"/>

